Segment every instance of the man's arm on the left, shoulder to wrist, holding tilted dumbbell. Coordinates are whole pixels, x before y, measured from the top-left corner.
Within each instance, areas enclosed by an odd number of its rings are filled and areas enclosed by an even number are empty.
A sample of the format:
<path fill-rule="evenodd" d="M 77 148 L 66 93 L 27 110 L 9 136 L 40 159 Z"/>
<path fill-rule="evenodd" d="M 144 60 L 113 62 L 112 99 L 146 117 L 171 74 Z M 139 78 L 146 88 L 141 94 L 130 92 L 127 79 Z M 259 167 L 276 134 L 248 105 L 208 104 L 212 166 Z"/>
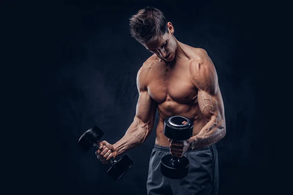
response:
<path fill-rule="evenodd" d="M 139 98 L 136 105 L 136 115 L 124 137 L 113 144 L 114 156 L 125 153 L 130 148 L 142 144 L 149 136 L 154 125 L 157 103 L 147 92 L 146 76 L 149 68 L 142 67 L 137 74 Z"/>

